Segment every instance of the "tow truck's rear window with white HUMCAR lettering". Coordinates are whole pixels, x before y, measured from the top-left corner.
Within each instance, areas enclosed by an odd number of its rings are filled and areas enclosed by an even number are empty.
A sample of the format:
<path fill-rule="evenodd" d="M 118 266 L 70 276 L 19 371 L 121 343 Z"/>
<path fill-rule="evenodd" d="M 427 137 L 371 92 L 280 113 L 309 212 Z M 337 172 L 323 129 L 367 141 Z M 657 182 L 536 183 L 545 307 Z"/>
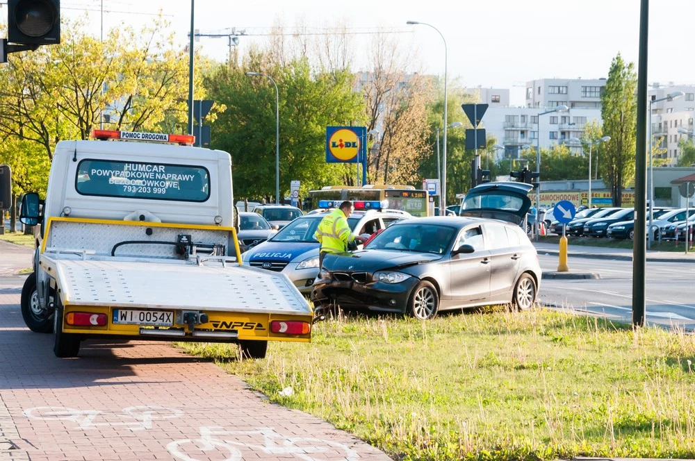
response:
<path fill-rule="evenodd" d="M 75 187 L 83 195 L 203 202 L 210 196 L 210 174 L 192 165 L 82 160 Z"/>

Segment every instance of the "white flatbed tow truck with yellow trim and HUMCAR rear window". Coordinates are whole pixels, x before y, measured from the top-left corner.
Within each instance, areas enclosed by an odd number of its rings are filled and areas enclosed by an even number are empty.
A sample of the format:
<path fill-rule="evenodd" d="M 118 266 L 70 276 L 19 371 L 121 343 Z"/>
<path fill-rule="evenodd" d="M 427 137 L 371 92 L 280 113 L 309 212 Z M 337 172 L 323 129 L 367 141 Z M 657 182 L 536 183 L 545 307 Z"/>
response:
<path fill-rule="evenodd" d="M 22 316 L 54 333 L 58 357 L 90 338 L 237 342 L 251 358 L 311 341 L 313 311 L 286 276 L 241 265 L 228 153 L 188 135 L 93 136 L 59 142 L 46 200 L 22 199 L 41 230 Z"/>

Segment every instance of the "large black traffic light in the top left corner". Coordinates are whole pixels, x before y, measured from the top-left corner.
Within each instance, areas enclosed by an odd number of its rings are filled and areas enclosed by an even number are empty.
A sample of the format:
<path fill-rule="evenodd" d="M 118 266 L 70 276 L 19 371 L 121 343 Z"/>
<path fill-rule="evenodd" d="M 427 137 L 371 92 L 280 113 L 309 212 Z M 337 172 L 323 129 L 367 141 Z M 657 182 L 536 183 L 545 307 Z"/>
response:
<path fill-rule="evenodd" d="M 60 43 L 60 0 L 8 0 L 8 42 Z"/>

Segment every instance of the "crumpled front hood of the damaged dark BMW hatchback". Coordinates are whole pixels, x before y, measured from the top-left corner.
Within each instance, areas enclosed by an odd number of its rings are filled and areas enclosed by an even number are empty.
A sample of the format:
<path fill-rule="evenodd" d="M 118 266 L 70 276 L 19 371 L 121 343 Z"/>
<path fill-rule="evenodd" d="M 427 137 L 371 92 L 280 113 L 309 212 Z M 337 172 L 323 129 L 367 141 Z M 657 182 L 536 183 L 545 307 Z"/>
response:
<path fill-rule="evenodd" d="M 365 271 L 395 269 L 436 261 L 442 255 L 399 250 L 361 250 L 340 255 L 325 255 L 323 267 L 329 271 Z"/>

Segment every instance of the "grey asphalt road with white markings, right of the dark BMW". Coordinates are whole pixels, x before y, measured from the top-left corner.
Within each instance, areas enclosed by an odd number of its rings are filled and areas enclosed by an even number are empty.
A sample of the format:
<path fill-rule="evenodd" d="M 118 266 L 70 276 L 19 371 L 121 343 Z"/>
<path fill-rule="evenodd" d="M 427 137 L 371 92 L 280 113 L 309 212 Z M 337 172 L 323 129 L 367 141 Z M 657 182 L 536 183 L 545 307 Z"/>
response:
<path fill-rule="evenodd" d="M 557 270 L 557 255 L 539 254 L 543 271 Z M 576 272 L 600 274 L 600 279 L 542 280 L 540 301 L 610 319 L 632 319 L 632 262 L 569 258 Z M 695 330 L 693 262 L 646 262 L 646 320 L 649 324 Z"/>

